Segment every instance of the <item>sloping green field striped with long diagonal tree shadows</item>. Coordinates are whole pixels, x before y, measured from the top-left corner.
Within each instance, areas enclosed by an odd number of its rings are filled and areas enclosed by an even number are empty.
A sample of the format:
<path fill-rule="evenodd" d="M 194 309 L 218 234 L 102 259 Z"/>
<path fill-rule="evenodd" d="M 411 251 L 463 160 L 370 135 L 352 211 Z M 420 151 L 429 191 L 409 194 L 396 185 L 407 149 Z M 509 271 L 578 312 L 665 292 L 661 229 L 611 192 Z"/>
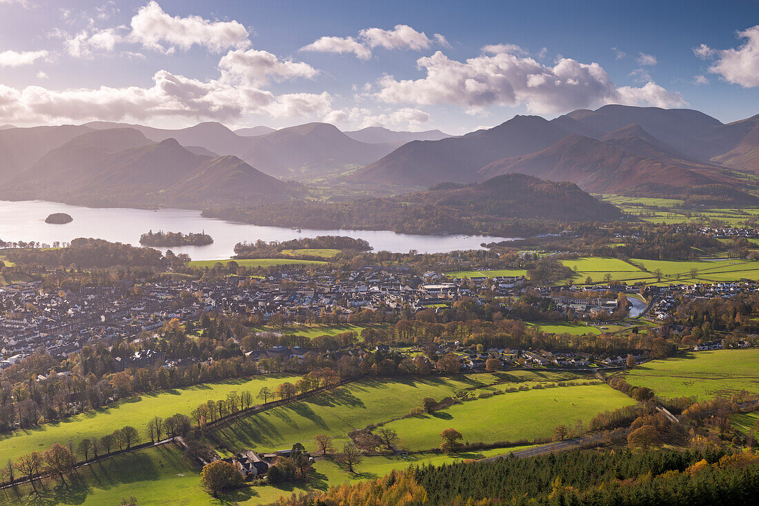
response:
<path fill-rule="evenodd" d="M 295 442 L 313 449 L 315 435 L 346 438 L 346 433 L 353 429 L 408 414 L 425 397 L 439 401 L 456 391 L 495 380 L 496 376 L 481 374 L 395 381 L 364 379 L 235 420 L 217 429 L 216 435 L 233 450 L 280 450 Z"/>

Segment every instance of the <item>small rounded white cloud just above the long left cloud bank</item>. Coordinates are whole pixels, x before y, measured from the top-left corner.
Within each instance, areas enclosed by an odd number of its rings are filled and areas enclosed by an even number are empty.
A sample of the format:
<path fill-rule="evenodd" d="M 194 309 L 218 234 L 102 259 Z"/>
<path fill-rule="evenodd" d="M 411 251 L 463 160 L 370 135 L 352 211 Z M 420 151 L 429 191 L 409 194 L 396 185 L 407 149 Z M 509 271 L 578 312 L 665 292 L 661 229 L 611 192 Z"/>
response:
<path fill-rule="evenodd" d="M 269 80 L 295 77 L 312 79 L 319 72 L 302 61 L 280 60 L 270 52 L 256 49 L 230 51 L 219 61 L 222 74 L 248 84 L 265 84 Z"/>

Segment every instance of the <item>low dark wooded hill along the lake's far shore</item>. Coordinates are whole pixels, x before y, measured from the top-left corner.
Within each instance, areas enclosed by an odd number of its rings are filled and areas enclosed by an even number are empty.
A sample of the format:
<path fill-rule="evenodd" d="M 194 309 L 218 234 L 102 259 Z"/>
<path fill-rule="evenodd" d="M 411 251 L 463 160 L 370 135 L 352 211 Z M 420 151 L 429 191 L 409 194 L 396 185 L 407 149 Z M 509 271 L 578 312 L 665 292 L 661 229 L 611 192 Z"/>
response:
<path fill-rule="evenodd" d="M 528 234 L 556 222 L 610 222 L 622 212 L 572 183 L 508 174 L 480 184 L 439 184 L 430 190 L 348 203 L 289 201 L 203 213 L 254 225 L 392 230 L 403 233 Z"/>

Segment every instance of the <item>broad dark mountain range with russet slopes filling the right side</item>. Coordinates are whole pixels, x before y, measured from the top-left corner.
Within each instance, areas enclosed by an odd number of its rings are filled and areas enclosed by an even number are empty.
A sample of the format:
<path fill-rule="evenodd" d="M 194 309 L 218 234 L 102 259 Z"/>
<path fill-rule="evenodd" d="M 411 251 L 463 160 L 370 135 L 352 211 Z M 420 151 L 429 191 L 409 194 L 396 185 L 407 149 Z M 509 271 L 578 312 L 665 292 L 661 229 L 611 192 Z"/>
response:
<path fill-rule="evenodd" d="M 657 184 L 745 188 L 732 171 L 759 172 L 759 116 L 723 124 L 689 109 L 606 105 L 553 120 L 516 116 L 462 137 L 415 141 L 353 175 L 426 185 L 522 173 L 620 193 Z M 669 188 L 671 190 L 671 188 Z"/>

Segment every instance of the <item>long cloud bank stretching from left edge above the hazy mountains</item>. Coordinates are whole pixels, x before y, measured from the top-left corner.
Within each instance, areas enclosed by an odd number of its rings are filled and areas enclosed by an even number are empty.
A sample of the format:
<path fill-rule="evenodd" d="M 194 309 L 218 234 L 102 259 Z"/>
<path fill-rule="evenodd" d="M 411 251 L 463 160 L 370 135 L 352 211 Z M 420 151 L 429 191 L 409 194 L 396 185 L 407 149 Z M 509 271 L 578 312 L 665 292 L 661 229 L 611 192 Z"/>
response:
<path fill-rule="evenodd" d="M 52 122 L 155 118 L 229 121 L 242 115 L 272 118 L 321 118 L 332 110 L 329 93 L 275 95 L 269 80 L 312 77 L 309 65 L 281 61 L 263 51 L 228 52 L 219 61 L 218 79 L 198 80 L 158 71 L 153 86 L 100 86 L 96 89 L 49 90 L 43 86 L 14 89 L 0 85 L 0 119 Z"/>

